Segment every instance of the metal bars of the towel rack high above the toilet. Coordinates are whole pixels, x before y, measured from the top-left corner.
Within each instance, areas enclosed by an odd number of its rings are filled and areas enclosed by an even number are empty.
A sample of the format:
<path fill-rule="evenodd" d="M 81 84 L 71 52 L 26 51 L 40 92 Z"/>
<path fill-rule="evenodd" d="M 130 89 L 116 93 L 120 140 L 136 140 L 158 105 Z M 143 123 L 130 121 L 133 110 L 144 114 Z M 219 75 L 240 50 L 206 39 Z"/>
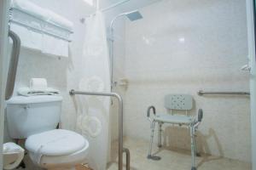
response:
<path fill-rule="evenodd" d="M 62 31 L 67 31 L 67 33 L 69 33 L 69 34 L 73 34 L 73 31 L 67 30 L 66 28 L 63 28 L 63 27 L 61 27 L 61 26 L 58 26 L 58 25 L 56 25 L 56 24 L 54 24 L 54 23 L 51 23 L 51 22 L 49 22 L 49 21 L 47 21 L 47 20 L 42 20 L 42 19 L 38 18 L 37 16 L 34 16 L 34 15 L 32 15 L 32 14 L 29 14 L 29 13 L 26 13 L 26 11 L 20 10 L 19 8 L 9 8 L 9 18 L 10 18 L 10 19 L 9 19 L 9 24 L 10 24 L 10 23 L 15 23 L 15 24 L 17 24 L 17 25 L 24 26 L 24 27 L 29 28 L 29 29 L 32 29 L 32 30 L 34 30 L 34 31 L 39 31 L 39 32 L 42 32 L 42 33 L 47 34 L 47 35 L 49 35 L 49 36 L 57 37 L 57 38 L 60 38 L 60 39 L 62 39 L 62 40 L 65 40 L 65 41 L 67 41 L 67 42 L 72 42 L 72 41 L 71 41 L 70 39 L 68 39 L 67 37 L 61 37 L 61 36 L 59 36 L 59 35 L 57 35 L 57 34 L 54 34 L 54 33 L 49 32 L 49 31 L 44 31 L 44 30 L 42 30 L 42 29 L 38 29 L 38 28 L 33 27 L 33 26 L 28 26 L 28 25 L 26 25 L 26 24 L 24 24 L 24 23 L 22 23 L 22 22 L 20 22 L 20 21 L 18 21 L 18 20 L 14 20 L 13 14 L 14 14 L 15 11 L 18 11 L 18 12 L 21 13 L 21 14 L 26 14 L 26 15 L 28 15 L 28 16 L 34 18 L 35 20 L 39 20 L 39 21 L 41 21 L 41 22 L 43 22 L 43 23 L 45 23 L 45 24 L 47 24 L 47 25 L 49 25 L 49 26 L 54 26 L 54 27 L 56 27 L 56 28 L 58 28 L 58 29 L 60 29 L 60 30 L 62 30 Z"/>

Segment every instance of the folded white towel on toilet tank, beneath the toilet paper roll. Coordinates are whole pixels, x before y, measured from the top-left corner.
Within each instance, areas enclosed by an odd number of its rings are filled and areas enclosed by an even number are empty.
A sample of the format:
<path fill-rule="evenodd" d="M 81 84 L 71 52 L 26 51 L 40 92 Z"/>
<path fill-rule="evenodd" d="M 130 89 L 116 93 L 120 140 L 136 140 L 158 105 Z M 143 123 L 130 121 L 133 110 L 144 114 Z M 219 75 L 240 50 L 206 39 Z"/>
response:
<path fill-rule="evenodd" d="M 19 88 L 18 94 L 22 96 L 35 96 L 35 95 L 60 95 L 60 91 L 54 88 L 47 88 L 44 90 L 32 90 L 31 88 Z"/>

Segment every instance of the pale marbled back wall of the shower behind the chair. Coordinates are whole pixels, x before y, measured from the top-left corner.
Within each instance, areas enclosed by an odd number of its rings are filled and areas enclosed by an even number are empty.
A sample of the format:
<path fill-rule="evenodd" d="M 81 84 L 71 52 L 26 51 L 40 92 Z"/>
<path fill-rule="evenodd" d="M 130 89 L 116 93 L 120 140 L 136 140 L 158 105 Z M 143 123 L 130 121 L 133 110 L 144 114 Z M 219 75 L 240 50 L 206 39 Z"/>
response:
<path fill-rule="evenodd" d="M 126 22 L 125 133 L 149 139 L 148 105 L 166 112 L 166 94 L 192 94 L 204 111 L 200 149 L 251 161 L 249 98 L 199 97 L 200 89 L 248 91 L 245 0 L 163 0 L 141 8 L 143 20 Z M 165 144 L 189 149 L 189 131 L 168 127 Z"/>

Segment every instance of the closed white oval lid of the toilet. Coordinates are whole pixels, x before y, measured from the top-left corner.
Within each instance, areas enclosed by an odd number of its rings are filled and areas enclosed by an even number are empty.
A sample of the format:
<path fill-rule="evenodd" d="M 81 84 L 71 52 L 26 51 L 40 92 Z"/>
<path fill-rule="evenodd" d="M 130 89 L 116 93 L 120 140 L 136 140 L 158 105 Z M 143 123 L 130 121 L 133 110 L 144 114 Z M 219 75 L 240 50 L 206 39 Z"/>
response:
<path fill-rule="evenodd" d="M 34 134 L 26 139 L 26 149 L 44 156 L 64 156 L 79 151 L 88 144 L 79 133 L 55 129 Z"/>

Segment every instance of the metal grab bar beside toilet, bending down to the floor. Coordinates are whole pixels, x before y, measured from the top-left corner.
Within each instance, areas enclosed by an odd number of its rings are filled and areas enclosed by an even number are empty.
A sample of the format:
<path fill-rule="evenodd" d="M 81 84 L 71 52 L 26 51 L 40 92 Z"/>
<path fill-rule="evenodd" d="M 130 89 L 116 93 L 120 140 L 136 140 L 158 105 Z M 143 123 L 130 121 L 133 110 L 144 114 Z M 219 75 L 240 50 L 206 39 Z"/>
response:
<path fill-rule="evenodd" d="M 123 99 L 117 93 L 94 93 L 71 90 L 70 95 L 82 94 L 93 96 L 108 96 L 119 100 L 119 170 L 123 170 L 123 153 L 126 154 L 126 170 L 130 170 L 130 151 L 123 146 Z"/>

